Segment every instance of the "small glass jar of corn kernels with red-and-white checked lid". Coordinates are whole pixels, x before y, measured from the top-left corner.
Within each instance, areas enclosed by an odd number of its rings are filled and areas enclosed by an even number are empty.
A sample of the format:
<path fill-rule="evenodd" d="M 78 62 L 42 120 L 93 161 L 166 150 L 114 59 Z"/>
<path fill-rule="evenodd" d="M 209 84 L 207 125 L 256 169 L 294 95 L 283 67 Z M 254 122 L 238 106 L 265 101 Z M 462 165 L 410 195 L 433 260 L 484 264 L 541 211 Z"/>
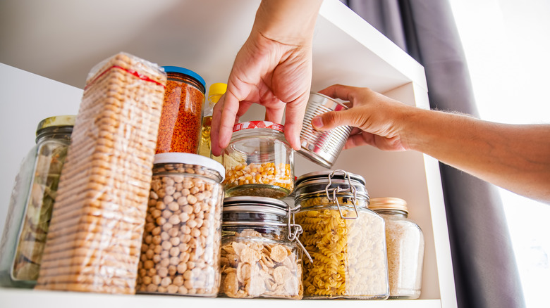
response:
<path fill-rule="evenodd" d="M 285 198 L 294 188 L 294 150 L 281 124 L 236 124 L 224 151 L 226 196 Z"/>

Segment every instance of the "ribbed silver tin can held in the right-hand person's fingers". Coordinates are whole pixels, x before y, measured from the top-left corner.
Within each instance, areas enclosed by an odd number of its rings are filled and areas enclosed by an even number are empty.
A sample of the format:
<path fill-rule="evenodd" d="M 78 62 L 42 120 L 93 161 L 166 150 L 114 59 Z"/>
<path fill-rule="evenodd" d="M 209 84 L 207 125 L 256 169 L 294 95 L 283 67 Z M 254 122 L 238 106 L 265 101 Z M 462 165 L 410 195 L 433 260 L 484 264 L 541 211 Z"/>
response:
<path fill-rule="evenodd" d="M 317 131 L 312 127 L 311 120 L 313 117 L 329 111 L 345 109 L 348 107 L 334 98 L 312 92 L 305 108 L 302 131 L 300 131 L 302 148 L 298 150 L 298 153 L 323 167 L 332 167 L 343 146 L 346 145 L 352 127 L 340 126 L 329 131 Z"/>

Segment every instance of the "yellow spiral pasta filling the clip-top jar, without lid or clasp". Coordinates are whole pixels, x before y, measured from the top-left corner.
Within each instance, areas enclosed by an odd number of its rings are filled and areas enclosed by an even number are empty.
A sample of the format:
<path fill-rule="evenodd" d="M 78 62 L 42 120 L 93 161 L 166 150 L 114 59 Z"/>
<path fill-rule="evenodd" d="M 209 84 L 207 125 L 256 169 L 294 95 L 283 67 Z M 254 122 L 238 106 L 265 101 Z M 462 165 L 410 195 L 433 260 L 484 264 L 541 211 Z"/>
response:
<path fill-rule="evenodd" d="M 339 202 L 350 204 L 346 198 Z M 341 210 L 344 217 L 355 217 L 352 207 Z M 313 260 L 304 260 L 304 297 L 388 296 L 384 220 L 364 207 L 358 210 L 357 219 L 343 219 L 328 198 L 310 198 L 295 214 L 304 231 L 300 240 Z"/>

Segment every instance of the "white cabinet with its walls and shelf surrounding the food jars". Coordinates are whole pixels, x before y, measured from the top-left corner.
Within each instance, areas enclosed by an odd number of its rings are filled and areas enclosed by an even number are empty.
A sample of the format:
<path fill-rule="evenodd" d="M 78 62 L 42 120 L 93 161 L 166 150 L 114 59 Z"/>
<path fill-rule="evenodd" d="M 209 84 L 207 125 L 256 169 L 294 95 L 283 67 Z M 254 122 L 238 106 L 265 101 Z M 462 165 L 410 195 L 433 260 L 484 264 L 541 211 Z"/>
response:
<path fill-rule="evenodd" d="M 8 2 L 10 5 L 5 7 L 13 10 L 15 17 L 0 23 L 14 32 L 13 37 L 3 38 L 0 51 L 0 141 L 4 144 L 0 160 L 2 228 L 18 164 L 34 144 L 37 123 L 44 117 L 78 111 L 82 95 L 79 88 L 94 64 L 118 51 L 126 51 L 159 65 L 195 70 L 204 77 L 207 86 L 225 82 L 236 52 L 250 32 L 259 4 L 256 0 L 93 3 L 60 0 L 48 4 L 33 1 L 34 6 L 23 9 L 25 1 Z M 48 18 L 50 15 L 55 18 Z M 128 18 L 128 15 L 139 18 Z M 90 24 L 97 23 L 98 18 L 101 20 L 98 25 Z M 338 0 L 325 0 L 319 12 L 313 61 L 312 91 L 336 83 L 368 86 L 404 103 L 429 108 L 422 66 Z M 243 120 L 262 120 L 262 111 L 259 107 L 252 108 Z M 296 155 L 296 175 L 322 169 Z M 456 307 L 437 161 L 422 153 L 383 152 L 362 147 L 343 151 L 333 169 L 361 174 L 372 198 L 391 196 L 407 200 L 409 217 L 420 225 L 426 240 L 420 300 L 348 301 L 346 305 Z M 73 304 L 82 307 L 151 307 L 152 304 L 336 307 L 341 304 L 331 300 L 202 299 L 1 288 L 0 302 L 2 307 L 22 304 L 23 307 Z"/>

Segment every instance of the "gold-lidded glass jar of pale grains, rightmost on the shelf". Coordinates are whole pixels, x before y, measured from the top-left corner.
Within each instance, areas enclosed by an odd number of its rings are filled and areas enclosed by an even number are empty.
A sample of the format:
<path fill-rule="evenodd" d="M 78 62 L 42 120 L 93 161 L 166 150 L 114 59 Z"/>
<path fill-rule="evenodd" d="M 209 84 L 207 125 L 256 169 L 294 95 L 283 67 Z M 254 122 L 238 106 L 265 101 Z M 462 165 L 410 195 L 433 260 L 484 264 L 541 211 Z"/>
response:
<path fill-rule="evenodd" d="M 420 226 L 407 218 L 407 202 L 400 198 L 372 198 L 369 207 L 386 222 L 389 298 L 420 297 L 424 235 Z"/>

